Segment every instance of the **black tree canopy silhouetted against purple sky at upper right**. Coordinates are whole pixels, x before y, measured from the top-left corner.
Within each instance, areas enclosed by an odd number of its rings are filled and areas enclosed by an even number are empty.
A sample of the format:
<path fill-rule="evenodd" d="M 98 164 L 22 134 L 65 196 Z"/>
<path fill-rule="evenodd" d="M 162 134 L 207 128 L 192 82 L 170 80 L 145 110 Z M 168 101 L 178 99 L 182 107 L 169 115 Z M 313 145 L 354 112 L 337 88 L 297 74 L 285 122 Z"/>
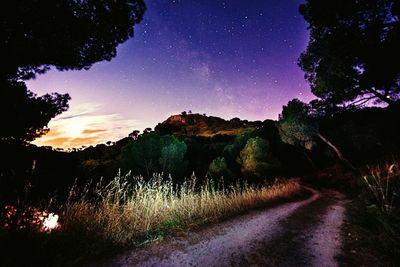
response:
<path fill-rule="evenodd" d="M 400 97 L 400 2 L 307 0 L 308 47 L 299 58 L 312 92 L 324 102 L 393 105 Z"/>

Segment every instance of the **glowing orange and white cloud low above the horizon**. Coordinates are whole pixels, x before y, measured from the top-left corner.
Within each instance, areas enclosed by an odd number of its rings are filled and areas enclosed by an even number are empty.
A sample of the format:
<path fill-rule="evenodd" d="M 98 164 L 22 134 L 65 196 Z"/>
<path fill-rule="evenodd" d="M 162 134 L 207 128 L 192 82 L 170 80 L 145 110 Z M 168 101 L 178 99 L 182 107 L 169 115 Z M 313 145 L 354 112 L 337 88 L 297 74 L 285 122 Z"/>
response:
<path fill-rule="evenodd" d="M 117 141 L 143 126 L 141 122 L 125 119 L 119 113 L 101 114 L 100 108 L 98 103 L 71 108 L 50 121 L 50 131 L 33 143 L 64 149 L 90 146 Z"/>

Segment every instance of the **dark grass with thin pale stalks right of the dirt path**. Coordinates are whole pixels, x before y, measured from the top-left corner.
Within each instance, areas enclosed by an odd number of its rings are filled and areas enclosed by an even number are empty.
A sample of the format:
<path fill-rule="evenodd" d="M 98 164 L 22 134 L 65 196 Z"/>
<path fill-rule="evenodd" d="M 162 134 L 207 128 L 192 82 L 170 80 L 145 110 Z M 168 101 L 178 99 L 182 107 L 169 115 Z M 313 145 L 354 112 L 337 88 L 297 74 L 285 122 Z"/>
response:
<path fill-rule="evenodd" d="M 347 204 L 343 226 L 347 266 L 399 266 L 399 162 L 368 166 L 359 179 L 361 193 Z"/>

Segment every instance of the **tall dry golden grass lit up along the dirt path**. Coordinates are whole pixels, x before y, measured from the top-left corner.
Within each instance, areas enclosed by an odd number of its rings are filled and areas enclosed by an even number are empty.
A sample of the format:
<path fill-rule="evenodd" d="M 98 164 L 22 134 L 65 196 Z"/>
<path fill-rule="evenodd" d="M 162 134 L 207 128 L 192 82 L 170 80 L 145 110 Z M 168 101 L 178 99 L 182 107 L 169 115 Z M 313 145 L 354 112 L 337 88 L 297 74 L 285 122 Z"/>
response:
<path fill-rule="evenodd" d="M 117 245 L 131 245 L 160 238 L 179 228 L 220 220 L 300 192 L 296 180 L 256 187 L 247 183 L 224 187 L 195 177 L 181 185 L 155 175 L 150 181 L 118 175 L 107 185 L 99 183 L 76 193 L 62 207 L 61 230 L 96 237 Z"/>

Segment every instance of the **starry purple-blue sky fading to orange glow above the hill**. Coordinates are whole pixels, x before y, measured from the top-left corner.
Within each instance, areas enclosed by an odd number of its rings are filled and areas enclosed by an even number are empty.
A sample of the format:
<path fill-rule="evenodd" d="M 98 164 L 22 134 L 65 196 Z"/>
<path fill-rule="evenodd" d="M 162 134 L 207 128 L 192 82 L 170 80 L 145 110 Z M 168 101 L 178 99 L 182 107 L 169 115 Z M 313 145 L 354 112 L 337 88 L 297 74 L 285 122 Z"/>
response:
<path fill-rule="evenodd" d="M 90 70 L 51 70 L 28 88 L 69 93 L 70 109 L 34 143 L 117 141 L 191 110 L 225 119 L 277 119 L 312 99 L 297 58 L 308 42 L 300 0 L 148 0 L 135 37 Z"/>

